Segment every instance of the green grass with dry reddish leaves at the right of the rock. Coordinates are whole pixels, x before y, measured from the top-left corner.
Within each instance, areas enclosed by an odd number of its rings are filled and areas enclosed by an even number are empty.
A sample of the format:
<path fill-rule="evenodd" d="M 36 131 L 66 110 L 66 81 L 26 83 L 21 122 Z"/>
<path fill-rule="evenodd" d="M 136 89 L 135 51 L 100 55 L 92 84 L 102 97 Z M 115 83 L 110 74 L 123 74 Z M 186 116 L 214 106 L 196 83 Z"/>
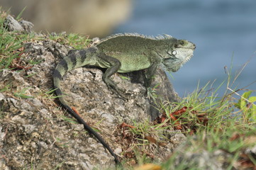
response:
<path fill-rule="evenodd" d="M 142 166 L 143 164 L 153 163 L 160 165 L 162 169 L 198 169 L 196 164 L 186 160 L 174 166 L 179 150 L 174 151 L 166 162 L 155 162 L 153 160 L 149 162 L 149 159 L 145 158 L 145 154 L 137 151 L 140 147 L 140 150 L 144 149 L 150 152 L 150 147 L 147 146 L 152 142 L 145 140 L 145 136 L 158 140 L 157 135 L 160 137 L 161 132 L 168 128 L 181 130 L 187 136 L 187 147 L 184 148 L 187 152 L 193 150 L 200 153 L 204 149 L 209 153 L 221 150 L 230 154 L 230 159 L 225 160 L 228 169 L 232 169 L 234 162 L 245 159 L 241 157 L 245 154 L 245 149 L 255 146 L 256 97 L 252 90 L 245 91 L 245 88 L 230 89 L 230 86 L 235 84 L 238 74 L 234 77 L 228 74 L 226 81 L 223 81 L 216 89 L 213 89 L 213 84 L 210 84 L 210 82 L 201 88 L 198 85 L 194 92 L 188 94 L 179 103 L 163 101 L 158 104 L 160 113 L 165 113 L 165 121 L 162 123 L 157 125 L 150 122 L 134 123 L 135 128 L 129 128 L 128 131 L 133 142 L 130 149 L 135 153 L 133 159 L 136 160 L 137 164 Z M 231 81 L 231 79 L 234 80 Z M 225 84 L 227 91 L 221 96 L 218 91 Z M 154 91 L 155 89 L 150 91 L 153 100 L 158 97 L 154 94 Z M 178 114 L 179 111 L 182 111 L 182 113 Z M 172 115 L 176 118 L 175 120 Z M 196 136 L 196 140 L 194 136 Z M 246 157 L 248 157 L 247 162 L 256 166 L 255 158 L 250 154 L 246 154 Z M 126 159 L 124 162 L 124 164 L 129 164 L 130 159 Z M 133 169 L 133 166 L 127 165 L 126 169 Z"/>

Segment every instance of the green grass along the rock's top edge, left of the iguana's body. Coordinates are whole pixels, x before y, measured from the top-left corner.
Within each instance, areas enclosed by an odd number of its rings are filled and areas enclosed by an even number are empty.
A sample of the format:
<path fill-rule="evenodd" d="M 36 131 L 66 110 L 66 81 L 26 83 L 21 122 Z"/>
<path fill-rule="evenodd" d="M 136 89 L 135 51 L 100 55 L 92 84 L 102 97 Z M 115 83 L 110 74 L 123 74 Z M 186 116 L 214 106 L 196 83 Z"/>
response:
<path fill-rule="evenodd" d="M 22 12 L 21 12 L 22 13 Z M 63 45 L 72 46 L 74 49 L 83 49 L 89 45 L 91 40 L 88 36 L 82 36 L 74 33 L 65 34 L 48 34 L 35 35 L 34 33 L 19 33 L 16 31 L 6 30 L 4 21 L 8 13 L 1 11 L 0 7 L 0 71 L 2 69 L 16 69 L 13 63 L 16 63 L 23 54 L 23 44 L 35 40 L 55 40 Z M 16 19 L 21 19 L 19 15 Z M 38 64 L 42 61 L 28 61 L 28 65 Z M 14 68 L 13 68 L 14 67 Z"/>

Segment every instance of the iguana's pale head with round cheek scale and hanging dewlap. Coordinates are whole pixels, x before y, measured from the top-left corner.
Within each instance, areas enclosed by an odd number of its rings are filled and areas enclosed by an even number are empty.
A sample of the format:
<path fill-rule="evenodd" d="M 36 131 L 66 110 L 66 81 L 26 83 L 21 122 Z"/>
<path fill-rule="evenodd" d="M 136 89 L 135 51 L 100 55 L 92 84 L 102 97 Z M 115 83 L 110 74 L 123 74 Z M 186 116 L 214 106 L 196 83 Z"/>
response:
<path fill-rule="evenodd" d="M 162 66 L 167 72 L 177 72 L 184 63 L 193 57 L 196 48 L 187 40 L 174 40 L 169 45 L 167 53 L 163 56 Z"/>

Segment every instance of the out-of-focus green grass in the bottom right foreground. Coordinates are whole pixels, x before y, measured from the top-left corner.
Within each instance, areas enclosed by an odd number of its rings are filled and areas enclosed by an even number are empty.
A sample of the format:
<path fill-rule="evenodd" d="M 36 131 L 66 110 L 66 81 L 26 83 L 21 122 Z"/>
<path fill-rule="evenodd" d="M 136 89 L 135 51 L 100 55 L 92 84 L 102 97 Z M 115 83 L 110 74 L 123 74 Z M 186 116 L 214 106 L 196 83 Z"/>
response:
<path fill-rule="evenodd" d="M 188 142 L 186 147 L 184 147 L 184 152 L 201 153 L 202 150 L 209 152 L 210 154 L 216 151 L 222 151 L 230 155 L 228 159 L 223 159 L 223 162 L 228 164 L 227 169 L 232 168 L 234 162 L 238 162 L 240 155 L 244 154 L 244 151 L 248 147 L 255 146 L 255 140 L 249 141 L 250 137 L 255 135 L 256 128 L 250 127 L 239 127 L 235 123 L 230 123 L 232 126 L 222 125 L 221 130 L 206 128 L 205 130 L 200 130 L 196 133 L 195 137 L 188 137 Z M 234 138 L 238 135 L 238 138 Z M 162 163 L 163 169 L 174 169 L 175 158 L 178 157 L 179 152 L 174 152 L 172 157 L 167 161 Z M 241 159 L 241 158 L 240 158 Z M 255 162 L 255 159 L 248 159 L 251 162 Z M 175 166 L 175 169 L 198 169 L 196 164 L 191 164 L 189 160 L 184 160 L 183 163 Z"/>

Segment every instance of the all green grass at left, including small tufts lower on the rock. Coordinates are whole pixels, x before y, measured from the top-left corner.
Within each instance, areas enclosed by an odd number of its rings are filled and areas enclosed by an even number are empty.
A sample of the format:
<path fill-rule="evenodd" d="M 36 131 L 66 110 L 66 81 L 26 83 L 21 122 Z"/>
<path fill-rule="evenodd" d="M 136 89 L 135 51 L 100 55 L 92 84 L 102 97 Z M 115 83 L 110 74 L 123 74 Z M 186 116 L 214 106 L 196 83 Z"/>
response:
<path fill-rule="evenodd" d="M 25 8 L 23 9 L 23 11 Z M 22 12 L 16 17 L 17 20 L 21 20 Z M 22 70 L 30 69 L 33 65 L 39 64 L 43 62 L 42 60 L 26 60 L 26 62 L 19 62 L 22 57 L 26 57 L 26 52 L 24 51 L 23 45 L 26 42 L 36 42 L 40 40 L 55 40 L 56 42 L 60 42 L 63 45 L 69 45 L 74 47 L 74 49 L 82 49 L 89 45 L 90 40 L 88 36 L 82 36 L 78 34 L 48 34 L 48 35 L 35 35 L 35 33 L 20 33 L 16 31 L 9 31 L 6 29 L 4 22 L 6 16 L 8 16 L 9 12 L 1 11 L 0 6 L 0 72 L 3 69 L 11 69 L 13 71 L 19 72 Z M 24 77 L 33 77 L 37 73 L 33 73 L 30 75 L 24 75 Z M 4 88 L 0 89 L 3 91 L 12 91 L 11 82 L 4 86 Z M 26 91 L 26 90 L 25 90 Z M 31 98 L 33 96 L 27 96 L 24 94 L 24 91 L 14 91 L 12 92 L 14 96 L 21 98 Z M 43 93 L 43 92 L 42 92 Z M 49 91 L 49 94 L 46 92 L 43 94 L 45 97 L 55 98 L 52 96 L 52 91 Z"/>

